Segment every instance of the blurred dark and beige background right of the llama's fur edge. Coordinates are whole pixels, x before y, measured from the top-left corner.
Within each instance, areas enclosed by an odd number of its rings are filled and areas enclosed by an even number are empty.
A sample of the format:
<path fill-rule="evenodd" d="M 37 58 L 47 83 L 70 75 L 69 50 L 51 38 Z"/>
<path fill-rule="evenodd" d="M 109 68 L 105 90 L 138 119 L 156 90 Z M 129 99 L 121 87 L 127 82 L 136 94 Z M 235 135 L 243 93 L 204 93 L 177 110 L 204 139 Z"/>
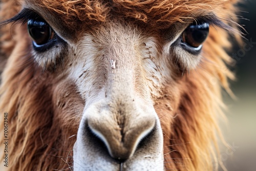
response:
<path fill-rule="evenodd" d="M 237 14 L 245 18 L 239 23 L 252 43 L 231 53 L 237 61 L 237 81 L 230 85 L 238 99 L 224 93 L 229 123 L 222 130 L 231 148 L 222 147 L 221 160 L 229 171 L 256 171 L 256 0 L 242 1 L 239 7 Z"/>

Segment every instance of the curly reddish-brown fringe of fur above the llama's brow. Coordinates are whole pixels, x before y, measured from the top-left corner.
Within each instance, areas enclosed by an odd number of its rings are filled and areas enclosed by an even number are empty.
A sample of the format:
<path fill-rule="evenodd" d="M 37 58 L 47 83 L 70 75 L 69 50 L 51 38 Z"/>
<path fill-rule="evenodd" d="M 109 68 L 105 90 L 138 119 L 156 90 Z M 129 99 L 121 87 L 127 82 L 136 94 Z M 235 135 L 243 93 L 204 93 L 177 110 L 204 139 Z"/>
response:
<path fill-rule="evenodd" d="M 226 9 L 229 1 L 220 0 L 169 0 L 169 1 L 69 1 L 69 0 L 25 0 L 25 6 L 42 14 L 49 13 L 61 18 L 68 26 L 77 23 L 106 22 L 113 17 L 147 23 L 157 27 L 168 27 L 175 22 L 200 15 L 220 12 Z"/>

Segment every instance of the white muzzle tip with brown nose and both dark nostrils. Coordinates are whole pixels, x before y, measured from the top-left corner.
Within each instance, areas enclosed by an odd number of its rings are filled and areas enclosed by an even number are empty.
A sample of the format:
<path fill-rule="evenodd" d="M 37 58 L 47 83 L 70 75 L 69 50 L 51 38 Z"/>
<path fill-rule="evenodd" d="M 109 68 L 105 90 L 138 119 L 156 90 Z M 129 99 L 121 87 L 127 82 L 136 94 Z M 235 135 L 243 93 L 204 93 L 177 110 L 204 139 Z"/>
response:
<path fill-rule="evenodd" d="M 84 111 L 74 170 L 164 170 L 162 132 L 154 109 L 136 100 L 108 102 Z"/>

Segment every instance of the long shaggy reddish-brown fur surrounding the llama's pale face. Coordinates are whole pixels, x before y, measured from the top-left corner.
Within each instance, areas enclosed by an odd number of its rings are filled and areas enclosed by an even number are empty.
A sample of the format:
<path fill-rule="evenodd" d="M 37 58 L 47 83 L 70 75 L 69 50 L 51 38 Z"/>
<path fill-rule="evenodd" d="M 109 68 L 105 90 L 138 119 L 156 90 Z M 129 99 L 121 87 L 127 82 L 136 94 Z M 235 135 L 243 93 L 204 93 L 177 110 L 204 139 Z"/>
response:
<path fill-rule="evenodd" d="M 141 20 L 158 29 L 175 22 L 190 22 L 186 19 L 209 13 L 217 14 L 228 23 L 234 16 L 236 2 L 34 0 L 38 8 L 51 9 L 70 27 L 80 22 L 108 22 L 113 15 L 119 15 L 135 22 Z M 1 19 L 14 16 L 19 9 L 15 0 L 2 1 Z M 10 25 L 1 28 L 1 53 L 4 56 L 17 54 L 8 59 L 0 89 L 0 113 L 9 113 L 8 170 L 68 169 L 72 166 L 72 147 L 76 140 L 73 135 L 78 130 L 80 119 L 77 116 L 82 113 L 79 109 L 83 101 L 72 83 L 68 86 L 66 82 L 59 83 L 54 73 L 41 75 L 41 70 L 24 52 L 30 41 L 26 26 L 19 27 L 12 26 L 13 39 Z M 227 33 L 221 28 L 211 28 L 203 48 L 205 59 L 198 69 L 185 73 L 177 82 L 168 82 L 163 90 L 166 96 L 155 102 L 164 133 L 166 170 L 211 170 L 216 167 L 216 134 L 221 135 L 217 119 L 222 117 L 223 106 L 221 86 L 229 91 L 227 78 L 234 78 L 225 65 L 230 57 L 224 47 L 230 47 Z M 63 86 L 68 94 L 61 92 Z M 57 101 L 62 96 L 70 96 L 70 100 Z"/>

